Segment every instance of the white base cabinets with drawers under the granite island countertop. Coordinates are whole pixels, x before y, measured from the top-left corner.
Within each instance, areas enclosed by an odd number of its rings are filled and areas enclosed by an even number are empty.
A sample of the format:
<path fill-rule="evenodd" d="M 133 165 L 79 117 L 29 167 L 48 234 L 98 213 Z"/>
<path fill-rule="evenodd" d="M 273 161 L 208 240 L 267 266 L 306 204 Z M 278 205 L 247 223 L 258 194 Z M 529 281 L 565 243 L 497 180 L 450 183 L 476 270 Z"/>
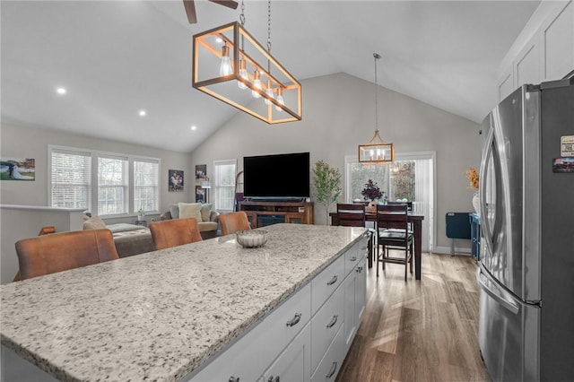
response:
<path fill-rule="evenodd" d="M 257 326 L 194 373 L 194 382 L 334 381 L 365 307 L 361 237 Z"/>

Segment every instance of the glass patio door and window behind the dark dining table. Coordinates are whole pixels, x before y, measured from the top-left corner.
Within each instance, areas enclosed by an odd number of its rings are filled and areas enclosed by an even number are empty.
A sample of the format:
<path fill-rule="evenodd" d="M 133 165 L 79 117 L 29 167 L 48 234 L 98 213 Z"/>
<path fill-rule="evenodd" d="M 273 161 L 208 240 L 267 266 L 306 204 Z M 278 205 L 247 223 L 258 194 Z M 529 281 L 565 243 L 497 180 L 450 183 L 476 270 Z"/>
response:
<path fill-rule="evenodd" d="M 363 200 L 361 191 L 372 179 L 387 200 L 406 199 L 413 202 L 416 213 L 422 213 L 422 250 L 431 251 L 434 242 L 434 152 L 396 154 L 393 164 L 365 166 L 356 156 L 348 155 L 345 162 L 345 203 Z"/>

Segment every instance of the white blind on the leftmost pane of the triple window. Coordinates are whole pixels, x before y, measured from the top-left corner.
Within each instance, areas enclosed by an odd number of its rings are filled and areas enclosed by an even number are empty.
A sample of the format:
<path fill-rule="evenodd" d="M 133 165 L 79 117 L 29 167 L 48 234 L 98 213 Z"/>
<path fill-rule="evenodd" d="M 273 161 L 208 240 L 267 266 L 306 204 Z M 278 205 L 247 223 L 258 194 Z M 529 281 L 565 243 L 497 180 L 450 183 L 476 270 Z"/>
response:
<path fill-rule="evenodd" d="M 51 205 L 53 207 L 89 208 L 90 152 L 53 150 L 50 179 Z"/>

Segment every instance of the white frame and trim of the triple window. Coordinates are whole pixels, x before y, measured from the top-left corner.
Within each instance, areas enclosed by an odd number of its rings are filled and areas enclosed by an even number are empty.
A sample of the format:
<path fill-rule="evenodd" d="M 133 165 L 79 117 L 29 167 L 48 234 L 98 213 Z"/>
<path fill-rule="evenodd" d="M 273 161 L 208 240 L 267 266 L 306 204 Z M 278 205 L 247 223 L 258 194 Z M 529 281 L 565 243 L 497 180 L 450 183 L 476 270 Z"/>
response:
<path fill-rule="evenodd" d="M 88 195 L 88 205 L 86 210 L 92 214 L 96 214 L 99 211 L 98 204 L 98 166 L 100 158 L 113 158 L 113 159 L 126 159 L 127 161 L 127 175 L 126 175 L 126 208 L 124 213 L 111 213 L 111 214 L 101 214 L 102 218 L 122 218 L 131 217 L 137 215 L 137 210 L 135 206 L 135 161 L 143 161 L 157 164 L 157 192 L 155 200 L 155 210 L 145 211 L 149 214 L 159 214 L 161 205 L 161 159 L 153 158 L 143 155 L 126 154 L 119 152 L 103 152 L 100 150 L 83 149 L 78 147 L 70 146 L 60 146 L 54 144 L 48 144 L 48 203 L 52 204 L 52 153 L 53 152 L 66 152 L 74 155 L 75 152 L 78 154 L 87 154 L 91 158 L 91 177 L 90 177 L 90 189 Z"/>

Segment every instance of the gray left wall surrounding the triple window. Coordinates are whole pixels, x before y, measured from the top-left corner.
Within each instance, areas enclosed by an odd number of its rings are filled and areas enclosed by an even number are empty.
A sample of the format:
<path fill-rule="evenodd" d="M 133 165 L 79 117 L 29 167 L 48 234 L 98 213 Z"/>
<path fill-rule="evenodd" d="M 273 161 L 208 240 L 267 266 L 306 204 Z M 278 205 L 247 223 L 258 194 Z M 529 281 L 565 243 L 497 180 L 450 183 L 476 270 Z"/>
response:
<path fill-rule="evenodd" d="M 187 153 L 170 152 L 131 143 L 120 143 L 85 135 L 72 135 L 23 126 L 3 125 L 0 137 L 2 138 L 0 149 L 2 157 L 34 158 L 36 160 L 36 180 L 33 182 L 0 182 L 1 204 L 48 205 L 48 144 L 160 158 L 160 211 L 167 211 L 170 203 L 196 200 L 195 170 L 192 170 L 193 168 L 189 164 L 189 155 Z M 182 169 L 185 171 L 185 191 L 183 193 L 168 192 L 169 169 Z M 107 221 L 133 222 L 134 219 Z"/>

